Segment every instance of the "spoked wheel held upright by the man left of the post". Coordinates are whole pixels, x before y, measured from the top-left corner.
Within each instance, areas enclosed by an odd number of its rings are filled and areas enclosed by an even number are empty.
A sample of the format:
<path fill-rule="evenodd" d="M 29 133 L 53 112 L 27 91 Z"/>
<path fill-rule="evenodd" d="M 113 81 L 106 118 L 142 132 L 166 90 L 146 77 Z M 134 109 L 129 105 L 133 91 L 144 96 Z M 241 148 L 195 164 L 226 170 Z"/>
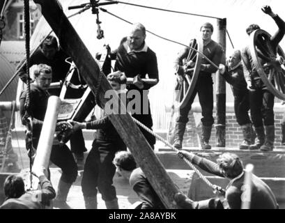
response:
<path fill-rule="evenodd" d="M 197 79 L 200 72 L 200 66 L 201 61 L 203 59 L 203 41 L 202 40 L 194 40 L 192 42 L 192 45 L 190 47 L 196 49 L 191 49 L 187 56 L 187 59 L 185 59 L 184 64 L 186 64 L 188 61 L 194 61 L 193 68 L 190 68 L 185 73 L 185 77 L 183 79 L 183 83 L 180 87 L 180 98 L 178 107 L 182 109 L 187 105 L 187 102 L 190 100 L 190 97 L 195 89 Z M 198 53 L 199 52 L 199 53 Z"/>

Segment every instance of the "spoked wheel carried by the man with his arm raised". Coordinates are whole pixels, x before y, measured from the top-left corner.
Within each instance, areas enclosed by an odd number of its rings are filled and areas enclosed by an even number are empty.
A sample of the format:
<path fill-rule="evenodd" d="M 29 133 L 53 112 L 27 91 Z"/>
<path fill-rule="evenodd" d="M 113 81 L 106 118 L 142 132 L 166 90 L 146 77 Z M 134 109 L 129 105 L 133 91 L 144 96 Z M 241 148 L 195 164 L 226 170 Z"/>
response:
<path fill-rule="evenodd" d="M 281 100 L 285 100 L 285 55 L 278 45 L 273 49 L 270 34 L 258 29 L 250 35 L 249 51 L 252 61 L 268 90 Z"/>

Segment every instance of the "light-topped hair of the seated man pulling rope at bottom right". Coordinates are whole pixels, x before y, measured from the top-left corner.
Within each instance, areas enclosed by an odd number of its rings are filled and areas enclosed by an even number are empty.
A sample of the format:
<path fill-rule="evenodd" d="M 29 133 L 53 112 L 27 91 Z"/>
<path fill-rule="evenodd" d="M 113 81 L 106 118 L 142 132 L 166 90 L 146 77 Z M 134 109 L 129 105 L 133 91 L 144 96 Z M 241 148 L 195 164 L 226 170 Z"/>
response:
<path fill-rule="evenodd" d="M 222 174 L 228 178 L 235 178 L 240 175 L 243 171 L 242 161 L 238 155 L 234 153 L 223 153 L 219 155 L 217 164 Z"/>

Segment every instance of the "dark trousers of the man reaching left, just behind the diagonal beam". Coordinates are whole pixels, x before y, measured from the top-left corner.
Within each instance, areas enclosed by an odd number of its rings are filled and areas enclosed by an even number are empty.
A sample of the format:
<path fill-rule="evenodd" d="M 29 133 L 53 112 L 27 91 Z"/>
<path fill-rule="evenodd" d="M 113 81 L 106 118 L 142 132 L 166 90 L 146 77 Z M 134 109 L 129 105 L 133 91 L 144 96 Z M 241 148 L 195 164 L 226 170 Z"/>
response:
<path fill-rule="evenodd" d="M 82 177 L 84 197 L 97 196 L 97 188 L 104 201 L 116 199 L 116 188 L 113 177 L 116 167 L 112 163 L 117 151 L 126 150 L 125 144 L 95 139 L 86 158 Z"/>

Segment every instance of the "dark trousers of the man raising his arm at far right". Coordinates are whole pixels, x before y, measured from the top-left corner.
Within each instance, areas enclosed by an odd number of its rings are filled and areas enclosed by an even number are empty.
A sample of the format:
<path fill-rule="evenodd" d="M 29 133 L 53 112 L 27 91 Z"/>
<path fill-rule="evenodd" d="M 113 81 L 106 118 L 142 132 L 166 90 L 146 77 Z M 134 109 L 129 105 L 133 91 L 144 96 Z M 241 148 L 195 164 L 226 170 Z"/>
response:
<path fill-rule="evenodd" d="M 249 91 L 250 116 L 254 127 L 274 125 L 274 98 L 270 91 L 261 88 Z"/>

